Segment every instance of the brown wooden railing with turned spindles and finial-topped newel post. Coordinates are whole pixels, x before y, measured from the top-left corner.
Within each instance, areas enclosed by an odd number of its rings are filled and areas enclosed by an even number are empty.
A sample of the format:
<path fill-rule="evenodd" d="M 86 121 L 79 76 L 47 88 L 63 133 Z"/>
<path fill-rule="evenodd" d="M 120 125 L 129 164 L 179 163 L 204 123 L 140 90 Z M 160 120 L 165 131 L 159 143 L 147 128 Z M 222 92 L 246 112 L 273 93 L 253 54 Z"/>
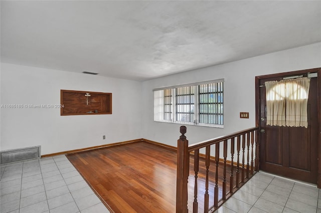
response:
<path fill-rule="evenodd" d="M 181 136 L 178 139 L 177 149 L 177 189 L 176 189 L 176 212 L 188 213 L 188 194 L 189 194 L 189 176 L 194 178 L 194 201 L 193 212 L 198 212 L 198 179 L 199 175 L 205 177 L 205 193 L 204 193 L 204 212 L 216 210 L 231 194 L 233 194 L 241 185 L 243 185 L 253 174 L 258 171 L 259 164 L 259 137 L 258 127 L 252 127 L 231 133 L 229 135 L 219 136 L 212 139 L 189 145 L 185 136 L 187 132 L 186 126 L 180 127 Z M 215 155 L 211 156 L 211 146 L 215 148 Z M 200 149 L 206 148 L 206 153 L 201 154 Z M 255 148 L 254 148 L 255 147 Z M 191 155 L 191 152 L 194 154 Z M 222 153 L 221 153 L 222 152 Z M 228 153 L 231 160 L 227 160 Z M 235 155 L 235 157 L 234 157 Z M 194 166 L 190 165 L 190 157 Z M 205 167 L 200 170 L 200 157 L 203 157 Z M 223 159 L 221 158 L 223 157 Z M 235 159 L 235 160 L 234 160 Z M 212 164 L 212 166 L 211 166 Z M 215 167 L 212 169 L 212 167 Z M 194 177 L 190 174 L 190 168 L 194 167 Z M 223 169 L 223 174 L 219 170 Z M 205 169 L 205 171 L 204 171 Z M 201 172 L 201 173 L 200 173 Z M 211 172 L 211 174 L 210 174 Z M 215 179 L 213 180 L 213 172 Z M 209 206 L 209 188 L 210 177 L 214 184 L 214 204 Z M 214 181 L 214 182 L 213 182 Z M 222 181 L 219 183 L 219 181 Z M 213 185 L 212 184 L 212 185 Z M 222 184 L 222 190 L 219 185 Z M 229 185 L 229 187 L 228 187 Z M 221 186 L 220 186 L 221 187 Z M 191 192 L 191 191 L 190 191 Z M 219 193 L 221 199 L 219 199 Z M 190 194 L 191 195 L 191 194 Z M 212 198 L 211 198 L 212 199 Z"/>

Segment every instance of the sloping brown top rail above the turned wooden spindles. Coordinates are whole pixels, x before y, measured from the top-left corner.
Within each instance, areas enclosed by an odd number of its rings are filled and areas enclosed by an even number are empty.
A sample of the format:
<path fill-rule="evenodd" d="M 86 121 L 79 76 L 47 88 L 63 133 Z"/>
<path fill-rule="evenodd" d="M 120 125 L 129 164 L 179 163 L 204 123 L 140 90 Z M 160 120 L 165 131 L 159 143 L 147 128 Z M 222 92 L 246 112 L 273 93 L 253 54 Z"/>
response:
<path fill-rule="evenodd" d="M 254 131 L 254 130 L 257 130 L 257 129 L 258 129 L 258 127 L 252 127 L 252 128 L 248 128 L 248 129 L 244 129 L 244 130 L 241 130 L 241 131 L 234 132 L 232 134 L 218 136 L 218 137 L 214 137 L 214 138 L 211 138 L 211 139 L 208 139 L 208 140 L 203 140 L 203 141 L 200 141 L 200 142 L 196 142 L 196 143 L 190 144 L 189 145 L 189 152 L 194 151 L 194 150 L 199 149 L 199 148 L 206 147 L 208 145 L 213 145 L 213 144 L 215 144 L 217 142 L 221 142 L 223 140 L 227 140 L 227 139 L 230 139 L 232 137 L 240 136 L 240 135 L 242 135 L 242 134 L 244 134 L 246 132 Z"/>

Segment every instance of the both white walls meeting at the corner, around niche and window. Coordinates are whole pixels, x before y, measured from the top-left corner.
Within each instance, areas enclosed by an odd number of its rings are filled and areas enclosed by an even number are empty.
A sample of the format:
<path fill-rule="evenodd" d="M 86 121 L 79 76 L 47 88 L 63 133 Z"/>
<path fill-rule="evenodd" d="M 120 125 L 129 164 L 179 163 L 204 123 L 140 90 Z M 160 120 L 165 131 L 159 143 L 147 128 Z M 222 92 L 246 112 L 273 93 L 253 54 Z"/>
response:
<path fill-rule="evenodd" d="M 42 154 L 146 138 L 177 145 L 181 124 L 153 121 L 153 88 L 224 78 L 224 128 L 187 125 L 190 143 L 255 126 L 255 76 L 321 67 L 321 43 L 139 82 L 1 63 L 1 104 L 60 104 L 60 89 L 112 92 L 113 112 L 60 116 L 59 108 L 1 108 L 0 150 Z M 248 111 L 249 119 L 239 118 Z M 106 139 L 102 139 L 106 135 Z"/>

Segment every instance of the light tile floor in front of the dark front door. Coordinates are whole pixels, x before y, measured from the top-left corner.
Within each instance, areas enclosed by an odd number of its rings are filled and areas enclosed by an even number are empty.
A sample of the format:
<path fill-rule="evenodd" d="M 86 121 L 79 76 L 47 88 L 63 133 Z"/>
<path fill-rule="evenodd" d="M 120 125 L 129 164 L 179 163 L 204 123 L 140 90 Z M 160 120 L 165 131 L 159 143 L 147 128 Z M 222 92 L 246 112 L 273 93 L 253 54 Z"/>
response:
<path fill-rule="evenodd" d="M 216 212 L 321 213 L 321 190 L 310 184 L 258 172 Z"/>

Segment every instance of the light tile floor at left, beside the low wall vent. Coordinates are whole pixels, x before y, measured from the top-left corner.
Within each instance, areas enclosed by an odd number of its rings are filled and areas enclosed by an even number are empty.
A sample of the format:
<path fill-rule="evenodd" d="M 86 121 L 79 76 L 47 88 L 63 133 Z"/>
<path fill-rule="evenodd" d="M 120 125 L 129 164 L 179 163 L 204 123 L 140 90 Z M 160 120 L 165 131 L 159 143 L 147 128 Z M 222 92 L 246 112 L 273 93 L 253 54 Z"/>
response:
<path fill-rule="evenodd" d="M 1 165 L 0 212 L 109 212 L 65 155 Z"/>

